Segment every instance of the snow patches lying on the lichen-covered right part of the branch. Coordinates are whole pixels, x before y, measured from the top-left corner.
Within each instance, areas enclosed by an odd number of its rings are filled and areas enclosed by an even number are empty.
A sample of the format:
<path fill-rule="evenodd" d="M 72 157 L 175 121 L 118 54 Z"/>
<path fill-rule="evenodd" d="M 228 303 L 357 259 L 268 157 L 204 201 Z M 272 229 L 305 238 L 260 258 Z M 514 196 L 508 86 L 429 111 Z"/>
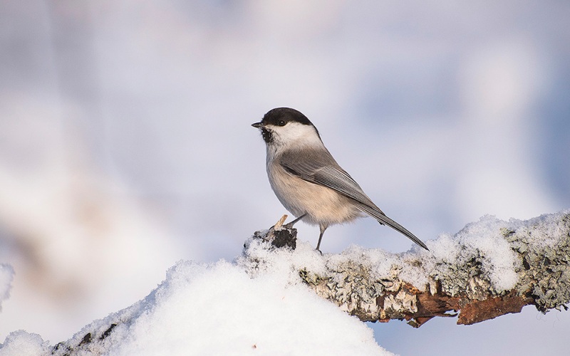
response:
<path fill-rule="evenodd" d="M 353 245 L 338 255 L 331 255 L 327 266 L 335 271 L 343 263 L 358 261 L 377 279 L 393 278 L 396 273 L 395 266 L 407 266 L 397 271 L 399 278 L 425 290 L 429 286 L 429 276 L 445 275 L 449 266 L 465 266 L 472 258 L 477 258 L 482 263 L 482 271 L 489 276 L 492 288 L 500 293 L 516 285 L 519 264 L 512 247 L 504 239 L 503 231 L 514 231 L 527 225 L 533 226 L 542 219 L 543 222 L 550 224 L 543 224 L 541 226 L 544 227 L 541 229 L 533 230 L 531 242 L 540 245 L 550 241 L 552 244 L 555 241 L 552 236 L 561 235 L 556 234 L 556 229 L 559 227 L 553 223 L 559 221 L 563 214 L 564 212 L 544 215 L 527 222 L 517 219 L 502 221 L 487 215 L 479 221 L 467 224 L 455 235 L 440 234 L 437 239 L 426 241 L 430 251 L 413 246 L 406 253 L 388 253 L 378 248 L 367 249 Z M 410 261 L 419 263 L 410 263 Z"/>

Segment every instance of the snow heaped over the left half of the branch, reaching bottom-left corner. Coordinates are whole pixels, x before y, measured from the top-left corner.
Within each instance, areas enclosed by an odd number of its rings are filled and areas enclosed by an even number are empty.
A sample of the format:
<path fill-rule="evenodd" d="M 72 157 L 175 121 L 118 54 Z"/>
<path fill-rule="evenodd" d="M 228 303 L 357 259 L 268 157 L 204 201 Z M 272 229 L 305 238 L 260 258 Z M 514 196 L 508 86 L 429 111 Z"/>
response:
<path fill-rule="evenodd" d="M 267 263 L 247 263 L 244 256 L 232 263 L 179 261 L 146 298 L 87 325 L 66 345 L 79 345 L 90 333 L 93 341 L 81 347 L 98 355 L 393 355 L 366 324 L 301 284 L 295 268 L 325 260 L 309 244 L 296 252 L 249 244 L 252 256 Z M 46 342 L 11 333 L 0 355 L 22 350 L 39 355 Z M 66 350 L 59 346 L 56 355 Z"/>

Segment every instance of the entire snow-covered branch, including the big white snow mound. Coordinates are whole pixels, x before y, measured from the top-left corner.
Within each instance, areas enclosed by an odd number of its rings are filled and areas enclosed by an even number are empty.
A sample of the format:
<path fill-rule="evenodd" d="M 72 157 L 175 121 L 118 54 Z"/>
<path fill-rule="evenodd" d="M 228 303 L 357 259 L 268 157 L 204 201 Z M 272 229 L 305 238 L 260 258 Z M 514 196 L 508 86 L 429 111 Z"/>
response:
<path fill-rule="evenodd" d="M 342 310 L 361 320 L 405 319 L 418 327 L 454 312 L 458 323 L 472 324 L 524 305 L 542 312 L 566 308 L 569 233 L 570 211 L 528 221 L 484 216 L 454 236 L 427 241 L 430 251 L 351 246 L 321 255 L 297 241 L 296 230 L 277 226 L 248 239 L 233 262 L 176 263 L 146 298 L 65 342 L 50 345 L 19 330 L 0 349 L 6 355 L 21 355 L 22 345 L 37 355 L 224 355 L 259 348 L 300 355 L 323 353 L 326 345 L 336 354 L 390 355 Z M 7 286 L 13 273 L 4 272 Z"/>

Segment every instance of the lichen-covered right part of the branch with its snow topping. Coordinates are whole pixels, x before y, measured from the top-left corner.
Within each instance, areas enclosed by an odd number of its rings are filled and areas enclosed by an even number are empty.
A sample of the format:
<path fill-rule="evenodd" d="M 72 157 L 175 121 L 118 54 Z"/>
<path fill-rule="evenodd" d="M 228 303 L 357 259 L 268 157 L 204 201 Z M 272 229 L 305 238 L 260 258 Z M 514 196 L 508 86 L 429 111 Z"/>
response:
<path fill-rule="evenodd" d="M 296 235 L 294 230 L 277 232 L 279 246 Z M 257 236 L 268 240 L 267 234 L 274 231 Z M 318 295 L 363 321 L 405 319 L 419 327 L 435 316 L 459 312 L 457 323 L 469 325 L 519 313 L 524 305 L 546 313 L 567 309 L 570 302 L 568 212 L 528 221 L 484 216 L 428 246 L 431 251 L 414 248 L 402 254 L 353 246 L 341 255 L 323 256 L 316 269 L 297 268 Z"/>

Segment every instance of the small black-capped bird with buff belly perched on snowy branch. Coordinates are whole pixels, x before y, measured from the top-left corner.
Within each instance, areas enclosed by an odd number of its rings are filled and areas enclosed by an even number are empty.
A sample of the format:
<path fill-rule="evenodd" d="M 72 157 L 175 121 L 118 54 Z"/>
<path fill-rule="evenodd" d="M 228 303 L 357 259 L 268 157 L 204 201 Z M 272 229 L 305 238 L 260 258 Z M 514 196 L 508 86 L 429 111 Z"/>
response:
<path fill-rule="evenodd" d="M 414 234 L 386 216 L 354 179 L 336 163 L 309 119 L 291 108 L 269 110 L 253 127 L 261 130 L 266 144 L 266 169 L 275 195 L 296 219 L 318 225 L 316 249 L 333 224 L 368 214 L 382 225 L 399 231 L 427 250 Z"/>

